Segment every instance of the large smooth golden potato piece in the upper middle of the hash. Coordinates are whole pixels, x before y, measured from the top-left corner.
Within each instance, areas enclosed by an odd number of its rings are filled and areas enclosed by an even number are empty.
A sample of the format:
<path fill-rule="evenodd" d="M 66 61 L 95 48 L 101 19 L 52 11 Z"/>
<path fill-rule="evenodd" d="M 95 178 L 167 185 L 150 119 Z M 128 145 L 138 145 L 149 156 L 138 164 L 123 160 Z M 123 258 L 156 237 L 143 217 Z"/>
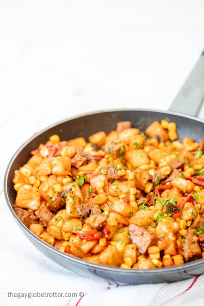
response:
<path fill-rule="evenodd" d="M 142 149 L 127 151 L 125 152 L 124 157 L 132 167 L 140 167 L 150 163 L 149 158 Z"/>

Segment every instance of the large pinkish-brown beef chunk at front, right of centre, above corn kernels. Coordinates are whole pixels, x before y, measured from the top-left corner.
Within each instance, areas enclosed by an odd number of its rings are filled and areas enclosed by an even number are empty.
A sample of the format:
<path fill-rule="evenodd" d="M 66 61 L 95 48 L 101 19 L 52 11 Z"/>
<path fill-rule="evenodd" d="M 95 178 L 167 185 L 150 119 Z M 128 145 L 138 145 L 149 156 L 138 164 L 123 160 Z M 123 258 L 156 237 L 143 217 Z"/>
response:
<path fill-rule="evenodd" d="M 151 234 L 144 227 L 135 224 L 129 225 L 129 233 L 132 242 L 141 254 L 147 253 L 148 248 L 152 245 L 157 245 L 159 240 L 157 235 Z"/>

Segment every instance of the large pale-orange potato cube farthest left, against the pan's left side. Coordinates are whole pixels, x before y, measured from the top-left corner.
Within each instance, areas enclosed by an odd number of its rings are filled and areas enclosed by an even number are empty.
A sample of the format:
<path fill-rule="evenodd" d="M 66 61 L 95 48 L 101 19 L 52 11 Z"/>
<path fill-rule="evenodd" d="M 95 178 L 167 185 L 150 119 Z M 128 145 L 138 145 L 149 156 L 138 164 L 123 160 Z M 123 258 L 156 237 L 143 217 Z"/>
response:
<path fill-rule="evenodd" d="M 17 192 L 16 206 L 37 210 L 40 207 L 40 193 L 37 190 L 21 187 Z"/>

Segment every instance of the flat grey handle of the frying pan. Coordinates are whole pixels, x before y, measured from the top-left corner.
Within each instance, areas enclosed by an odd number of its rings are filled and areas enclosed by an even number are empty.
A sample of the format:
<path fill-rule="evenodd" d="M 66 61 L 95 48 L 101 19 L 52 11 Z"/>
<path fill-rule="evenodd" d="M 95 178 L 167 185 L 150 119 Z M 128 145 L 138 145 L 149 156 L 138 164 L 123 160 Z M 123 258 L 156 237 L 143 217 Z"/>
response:
<path fill-rule="evenodd" d="M 204 51 L 187 80 L 176 95 L 169 110 L 198 116 L 204 99 Z"/>

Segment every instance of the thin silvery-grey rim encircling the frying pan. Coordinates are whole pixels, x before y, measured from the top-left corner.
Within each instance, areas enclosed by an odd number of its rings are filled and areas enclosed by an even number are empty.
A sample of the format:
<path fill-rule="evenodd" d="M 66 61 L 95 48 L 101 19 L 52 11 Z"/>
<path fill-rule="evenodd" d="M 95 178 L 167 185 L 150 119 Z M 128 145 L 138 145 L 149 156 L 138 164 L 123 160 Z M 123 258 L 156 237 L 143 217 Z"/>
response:
<path fill-rule="evenodd" d="M 23 150 L 23 148 L 32 140 L 34 140 L 35 138 L 37 138 L 40 134 L 42 134 L 43 132 L 46 132 L 47 130 L 61 124 L 64 123 L 66 121 L 72 120 L 72 119 L 77 119 L 77 118 L 82 118 L 84 116 L 89 116 L 89 115 L 94 115 L 94 114 L 100 114 L 100 113 L 108 113 L 108 112 L 121 112 L 121 111 L 146 111 L 146 112 L 157 112 L 157 113 L 162 113 L 162 114 L 171 114 L 171 115 L 176 115 L 176 116 L 180 116 L 180 117 L 184 117 L 184 118 L 188 118 L 188 119 L 192 119 L 201 123 L 204 123 L 204 120 L 200 119 L 200 118 L 196 118 L 194 116 L 190 116 L 190 115 L 186 115 L 186 114 L 182 114 L 182 113 L 178 113 L 178 112 L 174 112 L 174 111 L 164 111 L 164 110 L 153 110 L 153 109 L 140 109 L 140 108 L 131 108 L 131 109 L 110 109 L 110 110 L 98 110 L 98 111 L 94 111 L 94 112 L 89 112 L 89 113 L 85 113 L 85 114 L 80 114 L 77 116 L 72 116 L 60 121 L 57 121 L 56 123 L 47 126 L 46 128 L 40 130 L 38 133 L 34 134 L 32 137 L 30 137 L 28 140 L 26 140 L 18 149 L 17 151 L 14 153 L 14 155 L 12 156 L 12 158 L 9 161 L 9 164 L 6 168 L 6 172 L 5 172 L 5 176 L 4 176 L 4 196 L 6 199 L 6 203 L 7 206 L 13 216 L 13 218 L 15 219 L 15 221 L 17 222 L 17 224 L 20 226 L 20 228 L 22 230 L 24 230 L 26 232 L 26 234 L 28 236 L 30 236 L 31 239 L 35 240 L 36 244 L 41 244 L 41 246 L 45 249 L 48 249 L 50 252 L 54 252 L 56 254 L 56 256 L 62 256 L 64 259 L 68 259 L 71 260 L 75 263 L 78 263 L 79 265 L 83 265 L 83 266 L 87 266 L 87 268 L 92 268 L 92 269 L 99 269 L 99 270 L 105 270 L 105 271 L 109 271 L 111 272 L 115 272 L 115 273 L 120 273 L 120 274 L 147 274 L 147 275 L 151 275 L 151 274 L 160 274 L 162 271 L 166 271 L 166 272 L 176 272 L 176 271 L 180 271 L 183 270 L 185 268 L 190 268 L 190 267 L 197 267 L 199 265 L 203 265 L 204 261 L 203 259 L 197 259 L 195 261 L 191 261 L 189 263 L 184 263 L 183 265 L 180 266 L 174 266 L 174 267 L 161 267 L 161 268 L 155 268 L 155 269 L 147 269 L 147 270 L 142 270 L 142 269 L 124 269 L 124 268 L 120 268 L 120 267 L 112 267 L 112 266 L 105 266 L 105 265 L 100 265 L 100 264 L 95 264 L 95 263 L 90 263 L 87 261 L 84 261 L 83 259 L 79 259 L 76 258 L 74 256 L 70 256 L 68 254 L 62 253 L 59 250 L 57 250 L 56 248 L 54 248 L 53 246 L 47 244 L 46 242 L 44 242 L 43 240 L 41 240 L 39 237 L 37 237 L 36 235 L 34 235 L 21 221 L 20 219 L 17 217 L 17 215 L 15 214 L 12 205 L 9 201 L 9 197 L 8 197 L 8 192 L 7 192 L 7 181 L 8 181 L 8 173 L 9 170 L 11 168 L 11 166 L 13 165 L 13 161 L 16 158 L 16 156 Z M 69 270 L 69 268 L 67 268 Z"/>

